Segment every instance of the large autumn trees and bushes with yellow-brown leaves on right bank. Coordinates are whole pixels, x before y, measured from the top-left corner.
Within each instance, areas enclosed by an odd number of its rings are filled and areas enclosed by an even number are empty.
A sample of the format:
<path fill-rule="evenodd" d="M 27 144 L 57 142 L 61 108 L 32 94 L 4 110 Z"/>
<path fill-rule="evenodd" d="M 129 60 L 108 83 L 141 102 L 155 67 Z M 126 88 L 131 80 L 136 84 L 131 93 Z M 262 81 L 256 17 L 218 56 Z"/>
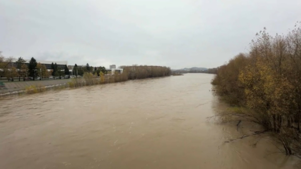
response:
<path fill-rule="evenodd" d="M 249 53 L 218 67 L 212 84 L 223 100 L 251 110 L 239 114 L 241 118 L 255 119 L 273 132 L 286 154 L 301 156 L 300 23 L 286 35 L 271 36 L 264 28 Z"/>

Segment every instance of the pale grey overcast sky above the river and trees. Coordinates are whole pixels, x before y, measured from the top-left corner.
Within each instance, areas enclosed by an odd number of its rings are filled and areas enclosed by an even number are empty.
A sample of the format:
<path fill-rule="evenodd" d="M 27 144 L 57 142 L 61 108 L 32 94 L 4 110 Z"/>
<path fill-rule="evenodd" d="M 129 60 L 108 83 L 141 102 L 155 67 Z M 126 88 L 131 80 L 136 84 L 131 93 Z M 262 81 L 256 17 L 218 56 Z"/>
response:
<path fill-rule="evenodd" d="M 68 64 L 216 67 L 265 26 L 285 33 L 301 0 L 0 0 L 5 56 Z"/>

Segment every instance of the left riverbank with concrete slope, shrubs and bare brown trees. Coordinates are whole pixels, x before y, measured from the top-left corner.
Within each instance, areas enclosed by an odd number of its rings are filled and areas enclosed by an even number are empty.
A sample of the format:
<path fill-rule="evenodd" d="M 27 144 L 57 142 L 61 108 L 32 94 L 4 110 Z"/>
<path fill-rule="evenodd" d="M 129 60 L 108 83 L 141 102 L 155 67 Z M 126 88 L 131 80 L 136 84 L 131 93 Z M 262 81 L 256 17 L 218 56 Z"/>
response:
<path fill-rule="evenodd" d="M 165 66 L 125 66 L 123 73 L 114 75 L 95 76 L 85 72 L 83 78 L 69 78 L 56 80 L 14 81 L 0 82 L 0 96 L 22 93 L 44 92 L 49 89 L 61 89 L 68 87 L 81 87 L 86 85 L 114 83 L 129 79 L 141 79 L 171 75 L 169 67 Z"/>

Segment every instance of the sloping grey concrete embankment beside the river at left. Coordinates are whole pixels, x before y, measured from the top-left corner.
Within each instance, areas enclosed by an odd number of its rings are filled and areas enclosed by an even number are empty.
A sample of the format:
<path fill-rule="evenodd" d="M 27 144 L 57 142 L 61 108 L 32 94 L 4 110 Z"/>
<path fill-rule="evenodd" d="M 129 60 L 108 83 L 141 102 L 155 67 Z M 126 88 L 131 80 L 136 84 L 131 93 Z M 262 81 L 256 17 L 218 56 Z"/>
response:
<path fill-rule="evenodd" d="M 69 79 L 55 79 L 55 80 L 31 80 L 31 81 L 0 81 L 0 95 L 6 93 L 14 93 L 18 91 L 25 90 L 26 86 L 51 86 L 67 83 Z"/>

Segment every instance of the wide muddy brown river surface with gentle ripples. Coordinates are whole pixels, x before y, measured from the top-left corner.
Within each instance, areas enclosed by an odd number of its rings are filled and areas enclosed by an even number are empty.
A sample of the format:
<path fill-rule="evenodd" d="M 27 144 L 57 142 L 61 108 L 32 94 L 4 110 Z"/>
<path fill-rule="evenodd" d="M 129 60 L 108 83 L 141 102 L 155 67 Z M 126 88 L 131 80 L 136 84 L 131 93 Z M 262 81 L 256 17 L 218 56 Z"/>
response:
<path fill-rule="evenodd" d="M 296 160 L 258 136 L 224 142 L 242 133 L 236 123 L 207 118 L 226 108 L 210 91 L 212 77 L 2 99 L 0 168 L 295 168 Z"/>

